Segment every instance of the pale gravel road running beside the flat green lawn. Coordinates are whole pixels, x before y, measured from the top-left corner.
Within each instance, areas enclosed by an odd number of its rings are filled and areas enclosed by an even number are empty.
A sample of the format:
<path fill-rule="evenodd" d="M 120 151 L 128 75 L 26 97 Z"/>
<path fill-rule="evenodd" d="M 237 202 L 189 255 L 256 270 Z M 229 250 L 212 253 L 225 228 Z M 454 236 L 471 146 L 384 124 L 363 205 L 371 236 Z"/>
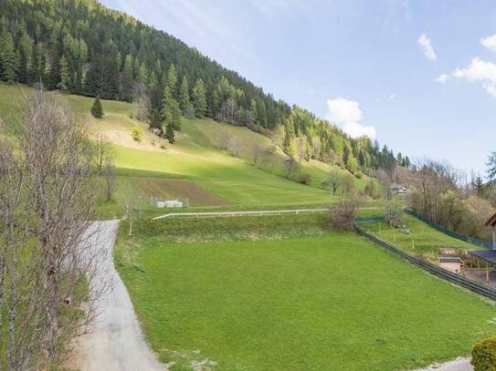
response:
<path fill-rule="evenodd" d="M 104 247 L 105 258 L 99 279 L 110 280 L 110 294 L 100 299 L 100 314 L 90 333 L 77 340 L 73 366 L 80 371 L 165 370 L 145 343 L 131 299 L 115 270 L 112 249 L 118 221 L 94 222 L 89 249 Z"/>

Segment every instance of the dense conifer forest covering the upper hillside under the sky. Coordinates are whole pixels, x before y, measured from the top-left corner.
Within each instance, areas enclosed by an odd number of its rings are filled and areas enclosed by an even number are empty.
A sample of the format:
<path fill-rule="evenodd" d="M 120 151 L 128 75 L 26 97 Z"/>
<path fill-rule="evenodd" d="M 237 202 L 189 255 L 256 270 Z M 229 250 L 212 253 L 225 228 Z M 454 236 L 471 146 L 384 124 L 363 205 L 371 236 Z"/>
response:
<path fill-rule="evenodd" d="M 352 173 L 409 164 L 96 0 L 0 0 L 0 8 L 0 77 L 6 82 L 138 101 L 137 116 L 172 141 L 182 115 L 206 116 L 278 139 L 292 158 L 334 162 Z"/>

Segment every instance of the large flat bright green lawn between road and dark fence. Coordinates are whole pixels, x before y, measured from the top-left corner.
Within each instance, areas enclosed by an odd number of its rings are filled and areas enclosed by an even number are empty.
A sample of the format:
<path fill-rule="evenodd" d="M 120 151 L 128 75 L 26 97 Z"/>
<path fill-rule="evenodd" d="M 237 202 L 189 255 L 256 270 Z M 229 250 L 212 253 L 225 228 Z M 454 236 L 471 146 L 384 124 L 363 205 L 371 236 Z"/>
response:
<path fill-rule="evenodd" d="M 354 234 L 120 243 L 146 338 L 173 369 L 411 369 L 496 331 L 492 304 Z"/>

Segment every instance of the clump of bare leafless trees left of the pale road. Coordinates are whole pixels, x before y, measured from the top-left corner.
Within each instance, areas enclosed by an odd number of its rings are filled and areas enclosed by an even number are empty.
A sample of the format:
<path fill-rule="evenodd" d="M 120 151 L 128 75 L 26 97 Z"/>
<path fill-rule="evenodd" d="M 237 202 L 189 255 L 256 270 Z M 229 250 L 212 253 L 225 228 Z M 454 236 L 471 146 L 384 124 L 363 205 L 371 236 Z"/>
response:
<path fill-rule="evenodd" d="M 8 309 L 0 317 L 8 322 L 8 370 L 57 366 L 108 289 L 88 284 L 102 252 L 82 248 L 94 237 L 96 196 L 94 148 L 84 125 L 39 92 L 26 98 L 22 116 L 12 144 L 0 146 L 0 259 L 8 283 Z M 13 185 L 16 193 L 7 191 Z"/>

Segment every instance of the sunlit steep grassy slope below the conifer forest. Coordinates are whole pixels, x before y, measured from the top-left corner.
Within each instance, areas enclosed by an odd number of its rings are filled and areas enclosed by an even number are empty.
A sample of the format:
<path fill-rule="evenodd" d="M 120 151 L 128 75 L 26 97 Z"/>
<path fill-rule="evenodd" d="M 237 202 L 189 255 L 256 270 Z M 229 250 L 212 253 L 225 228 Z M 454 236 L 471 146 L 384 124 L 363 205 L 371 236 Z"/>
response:
<path fill-rule="evenodd" d="M 7 118 L 16 112 L 13 108 L 22 104 L 23 91 L 27 90 L 0 85 L 0 117 Z M 274 164 L 271 171 L 262 170 L 251 160 L 252 148 L 257 144 L 267 149 L 273 144 L 246 128 L 211 119 L 184 119 L 173 146 L 149 132 L 145 123 L 132 119 L 135 105 L 104 100 L 104 118 L 93 119 L 92 98 L 53 94 L 88 121 L 93 137 L 102 133 L 115 144 L 115 163 L 121 175 L 117 201 L 101 203 L 109 216 L 121 212 L 122 193 L 130 185 L 144 200 L 151 196 L 188 197 L 193 206 L 311 205 L 332 201 L 329 192 L 320 188 L 331 166 L 314 160 L 301 162 L 301 172 L 311 175 L 310 185 L 302 185 L 281 176 L 284 156 L 277 150 L 270 158 Z M 142 129 L 140 143 L 131 138 L 133 127 Z M 241 143 L 239 158 L 219 149 L 232 136 Z M 147 178 L 146 185 L 143 177 Z M 189 185 L 177 187 L 174 181 L 164 181 L 171 178 L 181 178 Z M 359 188 L 364 187 L 364 179 L 355 181 Z"/>

